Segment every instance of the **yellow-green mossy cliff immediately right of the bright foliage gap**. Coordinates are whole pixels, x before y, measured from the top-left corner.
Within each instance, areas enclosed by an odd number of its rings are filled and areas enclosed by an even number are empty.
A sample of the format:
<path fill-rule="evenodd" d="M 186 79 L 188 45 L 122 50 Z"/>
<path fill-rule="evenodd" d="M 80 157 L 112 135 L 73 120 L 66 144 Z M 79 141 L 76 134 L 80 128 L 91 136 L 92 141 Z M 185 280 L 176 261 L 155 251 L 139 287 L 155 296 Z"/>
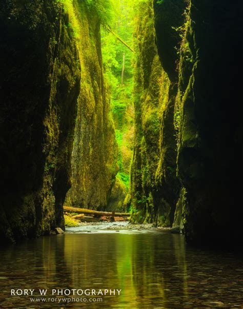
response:
<path fill-rule="evenodd" d="M 171 226 L 180 190 L 176 177 L 174 126 L 176 66 L 172 54 L 177 58 L 178 55 L 174 53 L 173 40 L 171 50 L 167 46 L 168 57 L 172 58 L 170 63 L 166 59 L 169 69 L 161 66 L 155 45 L 153 2 L 141 2 L 137 10 L 135 145 L 129 204 L 133 210 L 134 221 Z M 176 22 L 175 26 L 181 23 L 177 20 Z M 167 26 L 170 32 L 172 25 L 173 21 Z M 173 35 L 179 40 L 176 32 Z"/>

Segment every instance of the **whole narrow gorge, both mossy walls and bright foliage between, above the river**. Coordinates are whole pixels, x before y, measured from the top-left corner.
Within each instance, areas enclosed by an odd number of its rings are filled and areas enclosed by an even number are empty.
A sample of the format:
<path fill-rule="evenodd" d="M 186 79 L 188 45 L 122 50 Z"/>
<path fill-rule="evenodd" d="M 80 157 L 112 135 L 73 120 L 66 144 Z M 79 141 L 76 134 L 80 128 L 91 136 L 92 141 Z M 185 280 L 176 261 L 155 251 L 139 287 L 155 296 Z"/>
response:
<path fill-rule="evenodd" d="M 66 205 L 237 246 L 242 10 L 4 0 L 2 241 L 65 229 Z"/>

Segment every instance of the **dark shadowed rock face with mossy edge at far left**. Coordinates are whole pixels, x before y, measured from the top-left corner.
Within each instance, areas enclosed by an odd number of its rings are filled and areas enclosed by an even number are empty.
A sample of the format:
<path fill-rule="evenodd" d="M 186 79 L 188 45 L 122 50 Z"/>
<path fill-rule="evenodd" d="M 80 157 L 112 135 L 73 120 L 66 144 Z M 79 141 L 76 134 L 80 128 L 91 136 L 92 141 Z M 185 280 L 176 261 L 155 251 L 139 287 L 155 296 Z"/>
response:
<path fill-rule="evenodd" d="M 80 66 L 57 2 L 4 0 L 0 24 L 0 237 L 9 241 L 64 228 Z"/>

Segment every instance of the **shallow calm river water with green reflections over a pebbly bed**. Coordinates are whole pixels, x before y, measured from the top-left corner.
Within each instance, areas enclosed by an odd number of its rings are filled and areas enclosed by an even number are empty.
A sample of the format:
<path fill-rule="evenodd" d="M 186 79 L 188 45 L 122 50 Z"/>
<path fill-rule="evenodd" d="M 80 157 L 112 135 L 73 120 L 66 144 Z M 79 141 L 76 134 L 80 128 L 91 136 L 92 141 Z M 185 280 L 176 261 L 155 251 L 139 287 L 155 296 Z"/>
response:
<path fill-rule="evenodd" d="M 183 235 L 86 226 L 0 257 L 0 308 L 243 308 L 242 259 L 192 249 Z M 33 297 L 16 295 L 24 289 Z"/>

